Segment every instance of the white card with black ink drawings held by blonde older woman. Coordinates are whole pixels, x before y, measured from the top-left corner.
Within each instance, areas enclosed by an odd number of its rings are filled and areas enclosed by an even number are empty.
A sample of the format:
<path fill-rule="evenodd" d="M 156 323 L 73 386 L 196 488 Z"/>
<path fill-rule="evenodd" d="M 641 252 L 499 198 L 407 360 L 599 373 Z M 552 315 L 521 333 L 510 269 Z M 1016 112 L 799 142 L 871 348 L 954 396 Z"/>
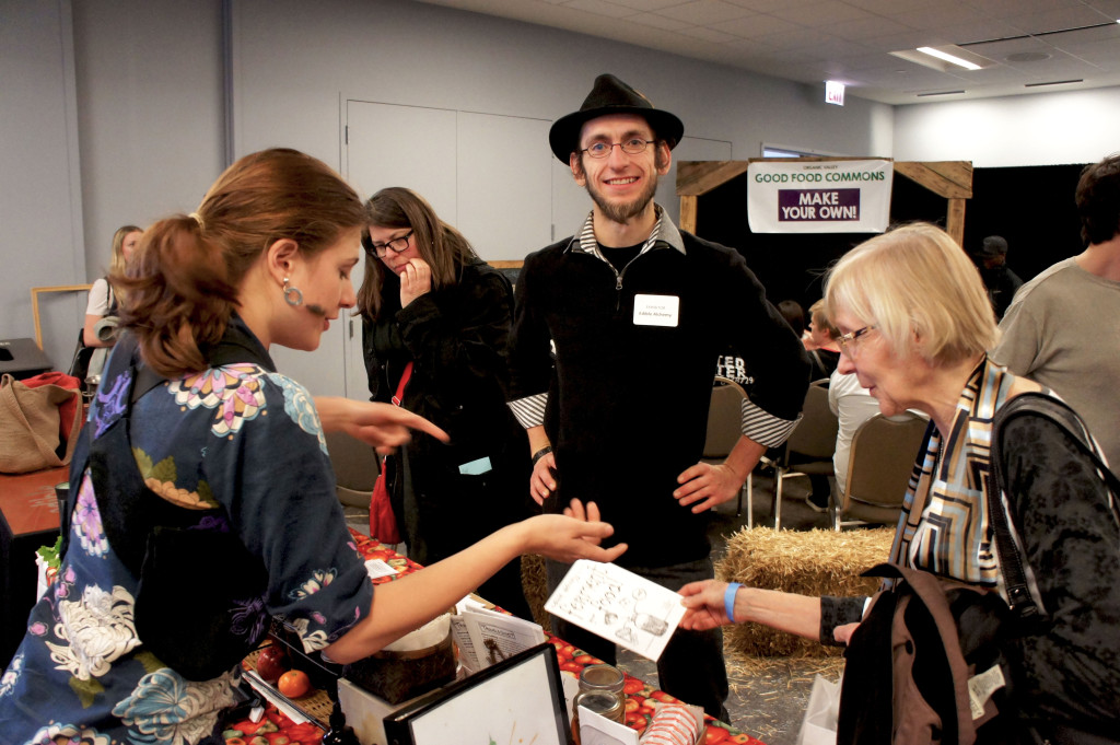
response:
<path fill-rule="evenodd" d="M 614 564 L 580 559 L 544 609 L 656 660 L 684 616 L 681 596 Z"/>

